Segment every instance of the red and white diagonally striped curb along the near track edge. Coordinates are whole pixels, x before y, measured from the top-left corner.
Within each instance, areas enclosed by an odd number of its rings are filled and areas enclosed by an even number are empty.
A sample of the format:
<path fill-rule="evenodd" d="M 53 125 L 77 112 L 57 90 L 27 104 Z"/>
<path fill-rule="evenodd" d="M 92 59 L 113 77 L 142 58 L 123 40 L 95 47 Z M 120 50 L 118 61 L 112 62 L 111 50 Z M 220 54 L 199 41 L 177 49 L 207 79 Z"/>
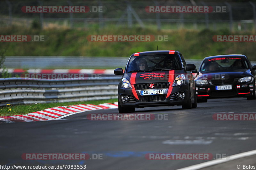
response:
<path fill-rule="evenodd" d="M 76 112 L 100 110 L 100 109 L 115 109 L 118 108 L 118 102 L 104 103 L 99 105 L 94 104 L 76 104 L 69 106 L 57 106 L 41 111 L 28 113 L 25 115 L 14 115 L 14 116 L 3 116 L 0 117 L 0 123 L 12 123 L 12 122 L 31 122 L 31 121 L 43 121 L 43 120 L 54 120 L 65 115 L 71 115 Z"/>

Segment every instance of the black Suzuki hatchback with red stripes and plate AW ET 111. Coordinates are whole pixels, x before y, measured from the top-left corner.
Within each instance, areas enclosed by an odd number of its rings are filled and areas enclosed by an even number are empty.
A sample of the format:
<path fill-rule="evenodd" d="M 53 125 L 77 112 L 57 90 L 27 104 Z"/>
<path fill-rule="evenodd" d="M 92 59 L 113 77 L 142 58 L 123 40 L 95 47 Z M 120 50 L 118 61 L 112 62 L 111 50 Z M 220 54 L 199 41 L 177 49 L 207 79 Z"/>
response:
<path fill-rule="evenodd" d="M 186 64 L 179 51 L 144 51 L 131 55 L 118 85 L 119 113 L 135 108 L 181 105 L 183 109 L 197 106 L 194 64 Z"/>

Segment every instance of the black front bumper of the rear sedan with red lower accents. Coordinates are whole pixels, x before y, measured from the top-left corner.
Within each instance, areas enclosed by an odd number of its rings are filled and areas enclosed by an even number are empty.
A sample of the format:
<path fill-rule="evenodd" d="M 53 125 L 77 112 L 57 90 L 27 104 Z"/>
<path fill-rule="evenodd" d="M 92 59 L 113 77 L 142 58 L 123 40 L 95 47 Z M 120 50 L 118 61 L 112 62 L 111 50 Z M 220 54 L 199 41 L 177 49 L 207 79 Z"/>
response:
<path fill-rule="evenodd" d="M 216 90 L 216 86 L 232 85 L 231 90 Z M 237 81 L 232 84 L 215 85 L 209 81 L 208 85 L 196 84 L 197 98 L 229 98 L 229 97 L 250 97 L 253 95 L 253 83 Z"/>

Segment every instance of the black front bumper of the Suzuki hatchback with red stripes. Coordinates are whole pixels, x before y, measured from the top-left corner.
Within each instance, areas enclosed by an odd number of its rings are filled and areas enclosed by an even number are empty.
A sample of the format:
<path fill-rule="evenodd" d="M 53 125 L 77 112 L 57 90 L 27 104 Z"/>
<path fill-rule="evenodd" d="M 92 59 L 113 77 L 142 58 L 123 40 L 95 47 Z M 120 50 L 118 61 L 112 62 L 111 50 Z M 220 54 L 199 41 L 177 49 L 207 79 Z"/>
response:
<path fill-rule="evenodd" d="M 166 98 L 168 89 L 165 89 L 165 94 L 163 95 L 147 95 L 142 97 L 140 95 L 140 90 L 136 90 L 138 98 L 135 98 L 132 89 L 118 89 L 118 100 L 122 107 L 154 107 L 154 106 L 174 106 L 183 105 L 188 101 L 188 84 L 182 84 L 180 86 L 175 86 L 172 88 L 171 95 Z M 176 96 L 178 93 L 184 94 L 181 99 Z M 127 96 L 130 98 L 129 102 L 124 102 L 123 97 Z"/>

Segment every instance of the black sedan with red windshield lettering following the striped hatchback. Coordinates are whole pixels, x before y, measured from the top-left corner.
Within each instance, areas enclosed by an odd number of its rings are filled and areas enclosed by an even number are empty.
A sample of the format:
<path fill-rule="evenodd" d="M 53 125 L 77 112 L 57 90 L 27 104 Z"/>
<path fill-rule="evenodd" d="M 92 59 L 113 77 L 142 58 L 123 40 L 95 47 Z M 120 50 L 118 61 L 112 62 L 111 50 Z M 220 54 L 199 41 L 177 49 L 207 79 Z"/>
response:
<path fill-rule="evenodd" d="M 204 58 L 196 77 L 197 101 L 208 98 L 247 97 L 255 99 L 256 66 L 245 55 L 218 55 Z"/>

